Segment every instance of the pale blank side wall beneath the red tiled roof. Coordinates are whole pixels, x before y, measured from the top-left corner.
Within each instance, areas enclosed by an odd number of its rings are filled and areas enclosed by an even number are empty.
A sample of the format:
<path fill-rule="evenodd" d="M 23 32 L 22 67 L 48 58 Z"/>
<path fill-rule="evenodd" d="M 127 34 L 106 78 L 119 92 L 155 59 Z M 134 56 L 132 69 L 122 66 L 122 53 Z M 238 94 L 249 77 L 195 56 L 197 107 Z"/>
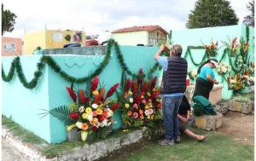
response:
<path fill-rule="evenodd" d="M 113 33 L 112 38 L 118 42 L 119 45 L 136 46 L 138 43 L 148 45 L 148 32 Z"/>

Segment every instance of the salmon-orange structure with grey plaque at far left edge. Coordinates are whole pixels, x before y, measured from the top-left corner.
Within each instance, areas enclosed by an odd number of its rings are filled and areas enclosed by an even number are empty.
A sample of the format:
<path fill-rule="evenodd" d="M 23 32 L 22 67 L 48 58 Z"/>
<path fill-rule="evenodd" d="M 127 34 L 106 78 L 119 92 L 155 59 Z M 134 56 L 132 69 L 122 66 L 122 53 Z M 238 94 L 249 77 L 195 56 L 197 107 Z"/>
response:
<path fill-rule="evenodd" d="M 21 38 L 2 37 L 2 56 L 22 55 Z"/>

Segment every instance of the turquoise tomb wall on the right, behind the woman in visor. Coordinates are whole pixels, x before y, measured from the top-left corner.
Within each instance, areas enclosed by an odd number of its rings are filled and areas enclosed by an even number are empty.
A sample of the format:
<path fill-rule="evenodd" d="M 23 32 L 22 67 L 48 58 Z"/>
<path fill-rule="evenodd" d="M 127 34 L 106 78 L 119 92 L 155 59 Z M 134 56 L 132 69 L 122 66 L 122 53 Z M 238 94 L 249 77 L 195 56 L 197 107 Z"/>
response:
<path fill-rule="evenodd" d="M 246 37 L 246 26 L 236 25 L 236 26 L 220 26 L 220 27 L 208 27 L 208 28 L 198 28 L 198 29 L 187 29 L 187 30 L 175 30 L 172 31 L 172 41 L 174 44 L 180 44 L 183 47 L 183 55 L 185 55 L 188 46 L 202 46 L 204 44 L 209 45 L 212 41 L 216 43 L 218 41 L 218 47 L 223 46 L 224 44 L 221 41 L 229 42 L 228 37 L 232 40 L 237 37 L 238 42 L 240 37 Z M 253 28 L 250 28 L 250 44 L 252 43 L 252 37 L 254 36 Z M 218 49 L 218 55 L 215 57 L 217 60 L 221 59 L 221 56 L 226 47 L 223 46 L 221 49 Z M 191 55 L 193 56 L 195 63 L 201 62 L 203 55 L 205 54 L 205 49 L 191 49 Z M 253 58 L 254 61 L 254 46 L 251 48 L 249 55 Z M 193 68 L 193 71 L 197 71 L 198 66 L 194 66 L 190 57 L 187 56 L 189 67 Z M 228 56 L 225 56 L 222 62 L 229 63 Z M 223 78 L 221 78 L 216 70 L 214 70 L 216 79 L 220 84 L 224 85 L 222 90 L 222 98 L 229 99 L 233 95 L 232 90 L 228 90 L 228 83 L 226 83 Z M 228 77 L 226 75 L 225 77 Z M 195 81 L 192 81 L 195 83 Z"/>

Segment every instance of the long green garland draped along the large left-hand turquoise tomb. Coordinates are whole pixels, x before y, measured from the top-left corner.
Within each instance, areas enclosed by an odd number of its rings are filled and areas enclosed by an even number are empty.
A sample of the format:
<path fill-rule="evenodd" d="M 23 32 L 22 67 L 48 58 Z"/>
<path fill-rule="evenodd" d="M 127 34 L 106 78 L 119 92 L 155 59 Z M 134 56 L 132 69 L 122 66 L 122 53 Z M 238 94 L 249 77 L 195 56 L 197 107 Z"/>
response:
<path fill-rule="evenodd" d="M 36 72 L 34 72 L 34 78 L 32 78 L 31 82 L 27 83 L 27 81 L 26 81 L 26 77 L 24 76 L 24 72 L 23 72 L 22 66 L 20 64 L 20 57 L 16 57 L 12 61 L 8 76 L 6 76 L 6 74 L 3 70 L 3 64 L 2 64 L 2 79 L 5 82 L 9 82 L 10 80 L 12 80 L 12 78 L 15 75 L 15 69 L 16 69 L 18 77 L 20 78 L 20 82 L 23 84 L 23 86 L 26 87 L 27 89 L 33 89 L 37 86 L 39 78 L 42 76 L 45 64 L 48 64 L 48 66 L 50 66 L 55 72 L 60 73 L 61 78 L 64 78 L 65 80 L 67 80 L 67 82 L 86 83 L 87 81 L 90 81 L 92 78 L 95 78 L 96 76 L 100 75 L 102 73 L 102 71 L 105 69 L 105 67 L 108 65 L 108 62 L 109 62 L 110 56 L 111 56 L 111 49 L 113 46 L 116 51 L 117 57 L 119 59 L 120 66 L 122 67 L 122 69 L 125 72 L 127 72 L 129 75 L 132 75 L 132 77 L 135 77 L 135 78 L 145 78 L 146 77 L 145 74 L 141 75 L 141 74 L 136 74 L 136 73 L 131 72 L 131 70 L 125 64 L 125 60 L 124 60 L 123 55 L 120 52 L 118 43 L 116 43 L 113 39 L 110 39 L 108 41 L 108 46 L 107 46 L 107 55 L 105 56 L 104 60 L 102 61 L 100 66 L 96 69 L 96 71 L 91 72 L 87 77 L 74 78 L 74 77 L 68 75 L 67 72 L 62 71 L 61 66 L 59 66 L 52 57 L 50 57 L 48 55 L 43 55 L 42 58 L 40 59 L 40 61 L 38 62 L 38 70 Z M 158 69 L 158 67 L 159 67 L 158 63 L 155 63 L 154 66 L 148 70 L 147 75 L 149 76 L 149 75 L 153 74 Z"/>

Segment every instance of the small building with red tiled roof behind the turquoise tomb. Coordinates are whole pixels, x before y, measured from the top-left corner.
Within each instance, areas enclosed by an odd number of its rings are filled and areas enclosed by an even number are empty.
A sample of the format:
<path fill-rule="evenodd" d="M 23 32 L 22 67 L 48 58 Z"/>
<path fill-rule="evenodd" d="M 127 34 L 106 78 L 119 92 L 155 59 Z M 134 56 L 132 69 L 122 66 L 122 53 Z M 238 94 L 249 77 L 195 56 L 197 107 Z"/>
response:
<path fill-rule="evenodd" d="M 160 26 L 133 26 L 112 32 L 112 38 L 119 45 L 157 46 L 166 43 L 168 32 Z"/>

